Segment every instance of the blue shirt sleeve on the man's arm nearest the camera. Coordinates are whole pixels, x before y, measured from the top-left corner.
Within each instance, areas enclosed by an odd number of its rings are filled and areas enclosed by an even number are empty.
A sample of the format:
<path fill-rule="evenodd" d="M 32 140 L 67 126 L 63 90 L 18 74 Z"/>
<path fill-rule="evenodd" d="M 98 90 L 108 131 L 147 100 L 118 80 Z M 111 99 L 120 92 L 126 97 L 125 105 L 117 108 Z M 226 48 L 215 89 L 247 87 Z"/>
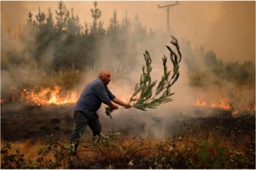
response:
<path fill-rule="evenodd" d="M 104 87 L 103 83 L 98 83 L 97 85 L 93 86 L 93 90 L 95 94 L 102 100 L 103 103 L 106 105 L 110 105 L 111 103 L 111 98 L 109 98 L 109 94 L 107 90 Z M 113 94 L 112 94 L 113 95 Z"/>

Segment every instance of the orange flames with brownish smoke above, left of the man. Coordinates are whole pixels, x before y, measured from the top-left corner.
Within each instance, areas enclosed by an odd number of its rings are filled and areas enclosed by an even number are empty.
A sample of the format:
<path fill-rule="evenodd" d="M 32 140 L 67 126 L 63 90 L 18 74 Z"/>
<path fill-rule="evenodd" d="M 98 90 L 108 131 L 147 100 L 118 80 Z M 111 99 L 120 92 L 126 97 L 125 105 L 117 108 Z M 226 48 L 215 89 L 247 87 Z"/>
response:
<path fill-rule="evenodd" d="M 77 70 L 66 70 L 60 74 L 53 72 L 47 76 L 46 73 L 36 75 L 40 80 L 38 82 L 30 81 L 26 77 L 25 82 L 3 85 L 1 105 L 13 102 L 37 106 L 75 103 L 78 98 L 75 87 L 80 83 L 81 75 Z"/>

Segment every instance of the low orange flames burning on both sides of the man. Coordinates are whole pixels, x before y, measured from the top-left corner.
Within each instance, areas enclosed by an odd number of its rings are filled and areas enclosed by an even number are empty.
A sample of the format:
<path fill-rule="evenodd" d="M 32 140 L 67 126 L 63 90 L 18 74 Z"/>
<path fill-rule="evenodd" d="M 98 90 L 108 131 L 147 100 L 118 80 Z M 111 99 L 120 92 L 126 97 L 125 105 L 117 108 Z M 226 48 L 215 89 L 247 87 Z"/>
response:
<path fill-rule="evenodd" d="M 66 89 L 61 85 L 33 87 L 16 87 L 12 86 L 8 89 L 8 95 L 1 96 L 1 106 L 11 103 L 22 103 L 28 106 L 47 106 L 47 105 L 73 105 L 78 98 L 77 89 Z M 124 97 L 124 94 L 122 94 Z M 125 100 L 129 98 L 126 94 Z M 215 96 L 215 98 L 198 97 L 190 98 L 187 104 L 196 107 L 223 109 L 231 111 L 232 115 L 240 114 L 241 112 L 255 111 L 255 100 L 249 100 L 247 105 L 234 104 L 233 99 L 228 96 Z"/>

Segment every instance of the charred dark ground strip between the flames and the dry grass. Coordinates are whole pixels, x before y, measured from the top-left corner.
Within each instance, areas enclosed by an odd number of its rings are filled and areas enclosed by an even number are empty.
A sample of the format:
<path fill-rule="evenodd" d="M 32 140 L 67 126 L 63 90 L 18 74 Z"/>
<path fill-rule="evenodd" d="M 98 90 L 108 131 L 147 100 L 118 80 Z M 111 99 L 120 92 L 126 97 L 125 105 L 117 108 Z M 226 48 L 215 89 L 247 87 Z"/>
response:
<path fill-rule="evenodd" d="M 1 140 L 26 141 L 46 140 L 53 134 L 57 141 L 68 141 L 73 131 L 73 105 L 29 106 L 21 103 L 1 105 Z M 102 123 L 102 133 L 121 132 L 125 136 L 162 138 L 179 132 L 179 123 L 184 120 L 193 125 L 205 127 L 224 126 L 233 129 L 235 119 L 229 111 L 212 109 L 205 116 L 205 109 L 194 111 L 196 117 L 182 112 L 163 116 L 152 111 L 138 112 L 136 109 L 122 109 L 113 112 L 113 119 L 104 114 L 104 107 L 98 111 Z M 221 116 L 221 117 L 220 117 Z M 209 129 L 210 130 L 210 129 Z M 86 128 L 82 138 L 91 140 L 91 130 Z"/>

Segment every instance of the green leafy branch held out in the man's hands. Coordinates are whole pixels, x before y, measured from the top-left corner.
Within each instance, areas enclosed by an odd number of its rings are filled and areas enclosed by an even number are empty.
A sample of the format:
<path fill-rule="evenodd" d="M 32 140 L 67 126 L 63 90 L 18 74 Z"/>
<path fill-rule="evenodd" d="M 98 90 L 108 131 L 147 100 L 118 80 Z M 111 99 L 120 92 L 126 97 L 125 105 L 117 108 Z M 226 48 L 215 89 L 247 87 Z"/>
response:
<path fill-rule="evenodd" d="M 132 107 L 136 109 L 141 109 L 146 111 L 149 109 L 155 109 L 158 105 L 163 103 L 168 103 L 172 101 L 173 92 L 171 92 L 171 87 L 179 78 L 179 63 L 181 62 L 181 52 L 179 48 L 179 43 L 174 36 L 171 36 L 172 40 L 170 43 L 176 47 L 176 52 L 168 45 L 167 50 L 170 52 L 170 60 L 172 61 L 173 69 L 168 70 L 167 68 L 167 56 L 163 56 L 163 76 L 158 82 L 156 87 L 156 92 L 153 92 L 154 87 L 156 86 L 157 80 L 152 81 L 151 72 L 152 72 L 152 59 L 149 52 L 146 50 L 144 59 L 146 64 L 143 65 L 143 73 L 140 76 L 140 82 L 136 83 L 135 92 L 132 94 L 129 103 L 134 103 Z M 106 107 L 106 114 L 111 118 L 111 112 L 113 110 L 111 107 Z"/>

